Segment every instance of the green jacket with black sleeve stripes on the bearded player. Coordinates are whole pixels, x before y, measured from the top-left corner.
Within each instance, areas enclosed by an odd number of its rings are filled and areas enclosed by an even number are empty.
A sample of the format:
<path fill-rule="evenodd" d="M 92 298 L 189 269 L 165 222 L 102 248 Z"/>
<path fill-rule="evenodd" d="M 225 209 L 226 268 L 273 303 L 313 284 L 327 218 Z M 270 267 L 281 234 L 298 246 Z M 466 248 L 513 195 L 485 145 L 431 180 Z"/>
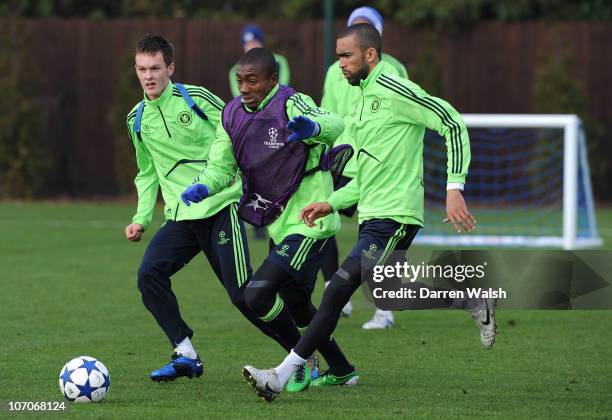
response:
<path fill-rule="evenodd" d="M 425 127 L 446 139 L 447 182 L 465 182 L 468 132 L 449 103 L 386 70 L 381 61 L 361 81 L 361 100 L 345 120 L 356 145 L 357 174 L 327 201 L 334 210 L 358 202 L 360 222 L 390 218 L 423 226 Z"/>

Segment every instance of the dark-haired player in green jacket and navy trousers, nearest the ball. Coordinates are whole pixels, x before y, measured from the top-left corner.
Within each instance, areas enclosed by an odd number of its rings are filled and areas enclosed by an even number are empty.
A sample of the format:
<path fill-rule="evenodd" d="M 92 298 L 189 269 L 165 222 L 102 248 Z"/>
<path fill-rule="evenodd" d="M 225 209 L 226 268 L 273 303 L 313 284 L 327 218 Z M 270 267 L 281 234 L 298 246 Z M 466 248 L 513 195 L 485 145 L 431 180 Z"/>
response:
<path fill-rule="evenodd" d="M 244 226 L 236 213 L 240 180 L 201 206 L 187 207 L 180 200 L 184 186 L 206 166 L 224 104 L 205 88 L 172 83 L 173 55 L 173 46 L 161 36 L 146 35 L 138 41 L 135 69 L 144 99 L 127 116 L 138 166 L 138 209 L 125 228 L 126 238 L 140 241 L 150 227 L 158 189 L 165 202 L 166 222 L 151 239 L 138 270 L 142 301 L 174 348 L 170 363 L 150 374 L 154 381 L 202 375 L 202 361 L 191 344 L 193 331 L 181 317 L 170 282 L 200 252 L 240 312 L 290 349 L 242 298 L 251 266 Z"/>

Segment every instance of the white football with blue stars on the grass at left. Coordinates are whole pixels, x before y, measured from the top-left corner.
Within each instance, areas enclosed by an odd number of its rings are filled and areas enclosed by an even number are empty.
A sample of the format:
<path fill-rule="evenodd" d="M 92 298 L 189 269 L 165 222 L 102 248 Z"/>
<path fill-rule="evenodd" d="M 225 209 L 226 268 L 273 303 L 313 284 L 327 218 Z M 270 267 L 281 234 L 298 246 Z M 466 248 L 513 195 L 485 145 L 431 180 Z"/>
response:
<path fill-rule="evenodd" d="M 64 365 L 60 371 L 60 391 L 69 401 L 100 402 L 110 387 L 110 374 L 94 357 L 80 356 Z"/>

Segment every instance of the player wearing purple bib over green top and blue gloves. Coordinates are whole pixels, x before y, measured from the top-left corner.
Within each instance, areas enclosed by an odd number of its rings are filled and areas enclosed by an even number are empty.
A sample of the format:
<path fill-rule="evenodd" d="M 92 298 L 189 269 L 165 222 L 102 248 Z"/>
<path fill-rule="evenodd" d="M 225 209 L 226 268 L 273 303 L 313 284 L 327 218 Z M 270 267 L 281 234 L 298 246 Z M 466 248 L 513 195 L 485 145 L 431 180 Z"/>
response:
<path fill-rule="evenodd" d="M 249 50 L 238 62 L 236 75 L 241 97 L 223 109 L 208 167 L 182 197 L 186 203 L 202 202 L 192 205 L 198 208 L 214 200 L 240 170 L 244 193 L 239 214 L 256 226 L 267 226 L 271 239 L 269 254 L 247 285 L 244 298 L 262 321 L 295 345 L 301 337 L 299 329 L 305 329 L 316 313 L 311 295 L 321 255 L 340 229 L 336 212 L 316 226 L 306 226 L 300 210 L 332 193 L 329 171 L 320 170 L 321 157 L 344 124 L 337 115 L 318 108 L 309 96 L 280 85 L 274 56 L 264 48 Z M 317 349 L 330 372 L 357 382 L 355 368 L 333 338 L 317 343 Z M 314 349 L 308 358 L 313 353 Z M 292 374 L 289 391 L 311 385 L 306 365 Z M 325 385 L 317 378 L 312 381 L 312 385 L 320 384 Z M 261 396 L 269 398 L 265 390 Z"/>

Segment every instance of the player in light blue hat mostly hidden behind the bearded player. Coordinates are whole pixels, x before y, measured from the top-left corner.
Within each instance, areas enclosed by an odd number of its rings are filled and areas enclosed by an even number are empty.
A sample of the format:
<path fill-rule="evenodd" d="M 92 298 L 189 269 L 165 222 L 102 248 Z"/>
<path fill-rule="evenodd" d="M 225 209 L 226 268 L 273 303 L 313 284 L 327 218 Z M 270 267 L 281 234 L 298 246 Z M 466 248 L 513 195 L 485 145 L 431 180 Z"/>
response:
<path fill-rule="evenodd" d="M 376 28 L 380 36 L 382 36 L 384 21 L 380 13 L 376 9 L 371 7 L 359 7 L 351 13 L 348 18 L 346 26 L 355 25 L 358 23 L 367 23 Z M 406 67 L 400 63 L 397 59 L 389 54 L 382 53 L 382 61 L 386 66 L 387 74 L 397 75 L 405 79 L 408 78 L 408 72 Z M 361 97 L 361 90 L 358 86 L 352 86 L 346 83 L 346 79 L 342 74 L 339 62 L 336 61 L 327 70 L 325 75 L 325 82 L 323 85 L 323 98 L 321 99 L 321 106 L 329 111 L 335 112 L 343 118 L 348 116 L 351 109 L 351 105 Z M 352 139 L 348 135 L 347 131 L 344 131 L 338 140 L 337 144 L 353 144 Z M 355 177 L 357 172 L 357 159 L 353 157 L 344 168 L 342 177 L 338 183 L 334 185 L 334 189 L 340 189 L 349 183 L 351 179 Z M 357 206 L 351 206 L 346 209 L 341 209 L 340 214 L 353 217 Z M 338 270 L 339 255 L 338 245 L 336 239 L 330 239 L 330 244 L 327 253 L 323 257 L 323 263 L 321 266 L 321 272 L 325 278 L 325 286 L 329 284 L 334 273 Z M 349 300 L 348 303 L 342 308 L 343 316 L 351 316 L 353 312 L 353 305 Z M 382 309 L 376 309 L 374 316 L 368 322 L 363 324 L 363 328 L 366 330 L 370 329 L 381 329 L 390 328 L 393 326 L 393 312 L 383 311 Z"/>

